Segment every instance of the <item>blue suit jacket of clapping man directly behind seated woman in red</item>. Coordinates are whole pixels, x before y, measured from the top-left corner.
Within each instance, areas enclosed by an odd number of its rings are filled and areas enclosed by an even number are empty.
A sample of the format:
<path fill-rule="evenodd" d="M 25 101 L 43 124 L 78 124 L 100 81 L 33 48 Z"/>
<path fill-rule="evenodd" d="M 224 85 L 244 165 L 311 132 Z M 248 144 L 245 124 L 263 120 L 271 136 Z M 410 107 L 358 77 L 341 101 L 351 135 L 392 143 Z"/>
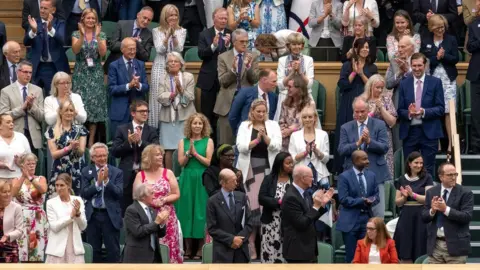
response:
<path fill-rule="evenodd" d="M 340 201 L 340 215 L 336 228 L 341 232 L 350 232 L 361 212 L 373 216 L 371 207 L 380 202 L 378 183 L 375 174 L 369 169 L 364 169 L 363 174 L 367 182 L 366 197 L 374 197 L 371 205 L 366 204 L 360 195 L 360 184 L 353 168 L 344 171 L 338 178 L 338 199 Z"/>

